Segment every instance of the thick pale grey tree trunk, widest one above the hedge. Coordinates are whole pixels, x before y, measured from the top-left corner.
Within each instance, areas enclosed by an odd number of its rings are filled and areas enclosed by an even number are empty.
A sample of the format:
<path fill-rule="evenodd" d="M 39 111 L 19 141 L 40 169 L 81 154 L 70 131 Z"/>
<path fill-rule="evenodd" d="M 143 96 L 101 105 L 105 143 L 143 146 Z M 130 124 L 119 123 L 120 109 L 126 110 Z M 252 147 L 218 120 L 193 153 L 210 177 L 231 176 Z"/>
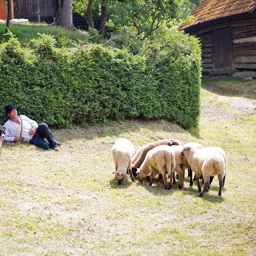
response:
<path fill-rule="evenodd" d="M 73 26 L 72 0 L 60 0 L 56 24 L 62 27 Z"/>

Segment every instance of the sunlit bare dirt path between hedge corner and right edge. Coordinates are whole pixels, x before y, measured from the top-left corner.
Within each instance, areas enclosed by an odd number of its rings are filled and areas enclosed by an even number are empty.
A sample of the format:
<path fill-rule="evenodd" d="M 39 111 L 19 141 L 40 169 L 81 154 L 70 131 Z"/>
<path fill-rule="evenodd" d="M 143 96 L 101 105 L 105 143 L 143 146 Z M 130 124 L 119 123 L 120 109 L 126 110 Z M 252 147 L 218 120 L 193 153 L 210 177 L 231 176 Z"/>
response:
<path fill-rule="evenodd" d="M 238 116 L 246 116 L 256 114 L 256 101 L 247 100 L 241 97 L 225 97 L 217 96 L 217 101 L 226 102 L 230 108 L 239 111 L 240 114 L 234 114 L 225 108 L 217 108 L 213 106 L 212 102 L 203 102 L 201 104 L 201 118 L 210 121 L 217 121 L 220 119 L 235 119 Z"/>

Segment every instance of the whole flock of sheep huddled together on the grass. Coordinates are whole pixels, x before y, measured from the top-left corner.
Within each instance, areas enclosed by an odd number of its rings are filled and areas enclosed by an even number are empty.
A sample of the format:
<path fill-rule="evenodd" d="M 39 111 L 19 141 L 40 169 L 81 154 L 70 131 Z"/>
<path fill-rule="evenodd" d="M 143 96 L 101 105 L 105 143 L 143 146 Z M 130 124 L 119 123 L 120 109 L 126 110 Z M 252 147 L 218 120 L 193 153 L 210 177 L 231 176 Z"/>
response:
<path fill-rule="evenodd" d="M 221 196 L 226 177 L 226 154 L 219 147 L 203 148 L 194 142 L 184 145 L 176 139 L 164 139 L 142 146 L 134 155 L 132 143 L 121 138 L 113 145 L 112 154 L 116 165 L 116 171 L 112 173 L 116 174 L 118 185 L 122 184 L 125 177 L 135 182 L 134 176 L 138 175 L 140 182 L 150 177 L 149 186 L 151 186 L 153 178 L 158 174 L 156 182 L 163 178 L 164 189 L 171 189 L 172 183 L 176 183 L 175 171 L 181 189 L 184 185 L 185 170 L 188 169 L 190 186 L 193 185 L 192 170 L 195 172 L 200 197 L 204 196 L 205 191 L 208 192 L 213 177 L 218 175 L 219 196 Z M 169 186 L 166 173 L 170 177 Z M 203 190 L 199 177 L 203 180 Z"/>

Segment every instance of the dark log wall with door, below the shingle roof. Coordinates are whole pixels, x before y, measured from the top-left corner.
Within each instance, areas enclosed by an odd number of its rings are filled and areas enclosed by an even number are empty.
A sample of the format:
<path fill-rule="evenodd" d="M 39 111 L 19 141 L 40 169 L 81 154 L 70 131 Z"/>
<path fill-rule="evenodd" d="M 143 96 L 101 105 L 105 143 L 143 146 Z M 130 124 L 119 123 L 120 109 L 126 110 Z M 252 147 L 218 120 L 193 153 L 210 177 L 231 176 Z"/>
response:
<path fill-rule="evenodd" d="M 231 30 L 231 33 L 227 32 L 226 39 L 224 34 L 220 36 L 221 33 L 216 33 L 226 28 Z M 208 21 L 187 28 L 185 32 L 200 38 L 203 74 L 256 71 L 256 11 Z M 230 36 L 230 39 L 227 36 Z M 230 47 L 229 51 L 221 52 L 221 40 L 230 41 L 227 43 Z M 216 59 L 218 54 L 220 57 Z M 225 70 L 228 67 L 228 61 L 231 61 L 231 65 Z M 223 65 L 225 67 L 222 67 Z"/>

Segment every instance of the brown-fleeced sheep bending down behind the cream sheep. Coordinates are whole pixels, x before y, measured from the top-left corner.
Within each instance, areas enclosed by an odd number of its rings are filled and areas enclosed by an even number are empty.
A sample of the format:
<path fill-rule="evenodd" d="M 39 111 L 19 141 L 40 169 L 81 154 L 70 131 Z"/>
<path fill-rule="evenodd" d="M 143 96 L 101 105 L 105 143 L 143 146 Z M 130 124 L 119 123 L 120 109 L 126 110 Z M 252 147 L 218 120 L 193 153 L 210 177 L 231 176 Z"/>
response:
<path fill-rule="evenodd" d="M 133 175 L 136 175 L 137 168 L 140 168 L 140 166 L 143 163 L 149 150 L 155 148 L 156 146 L 169 145 L 170 143 L 168 144 L 168 142 L 172 142 L 172 145 L 184 146 L 184 144 L 180 140 L 176 140 L 176 139 L 156 140 L 156 141 L 153 141 L 153 142 L 145 145 L 143 148 L 139 149 L 139 151 L 140 151 L 139 156 L 137 157 L 136 161 L 134 161 L 134 163 L 132 164 Z M 171 145 L 169 145 L 169 146 L 171 146 Z M 138 152 L 136 153 L 136 155 L 138 154 Z"/>

